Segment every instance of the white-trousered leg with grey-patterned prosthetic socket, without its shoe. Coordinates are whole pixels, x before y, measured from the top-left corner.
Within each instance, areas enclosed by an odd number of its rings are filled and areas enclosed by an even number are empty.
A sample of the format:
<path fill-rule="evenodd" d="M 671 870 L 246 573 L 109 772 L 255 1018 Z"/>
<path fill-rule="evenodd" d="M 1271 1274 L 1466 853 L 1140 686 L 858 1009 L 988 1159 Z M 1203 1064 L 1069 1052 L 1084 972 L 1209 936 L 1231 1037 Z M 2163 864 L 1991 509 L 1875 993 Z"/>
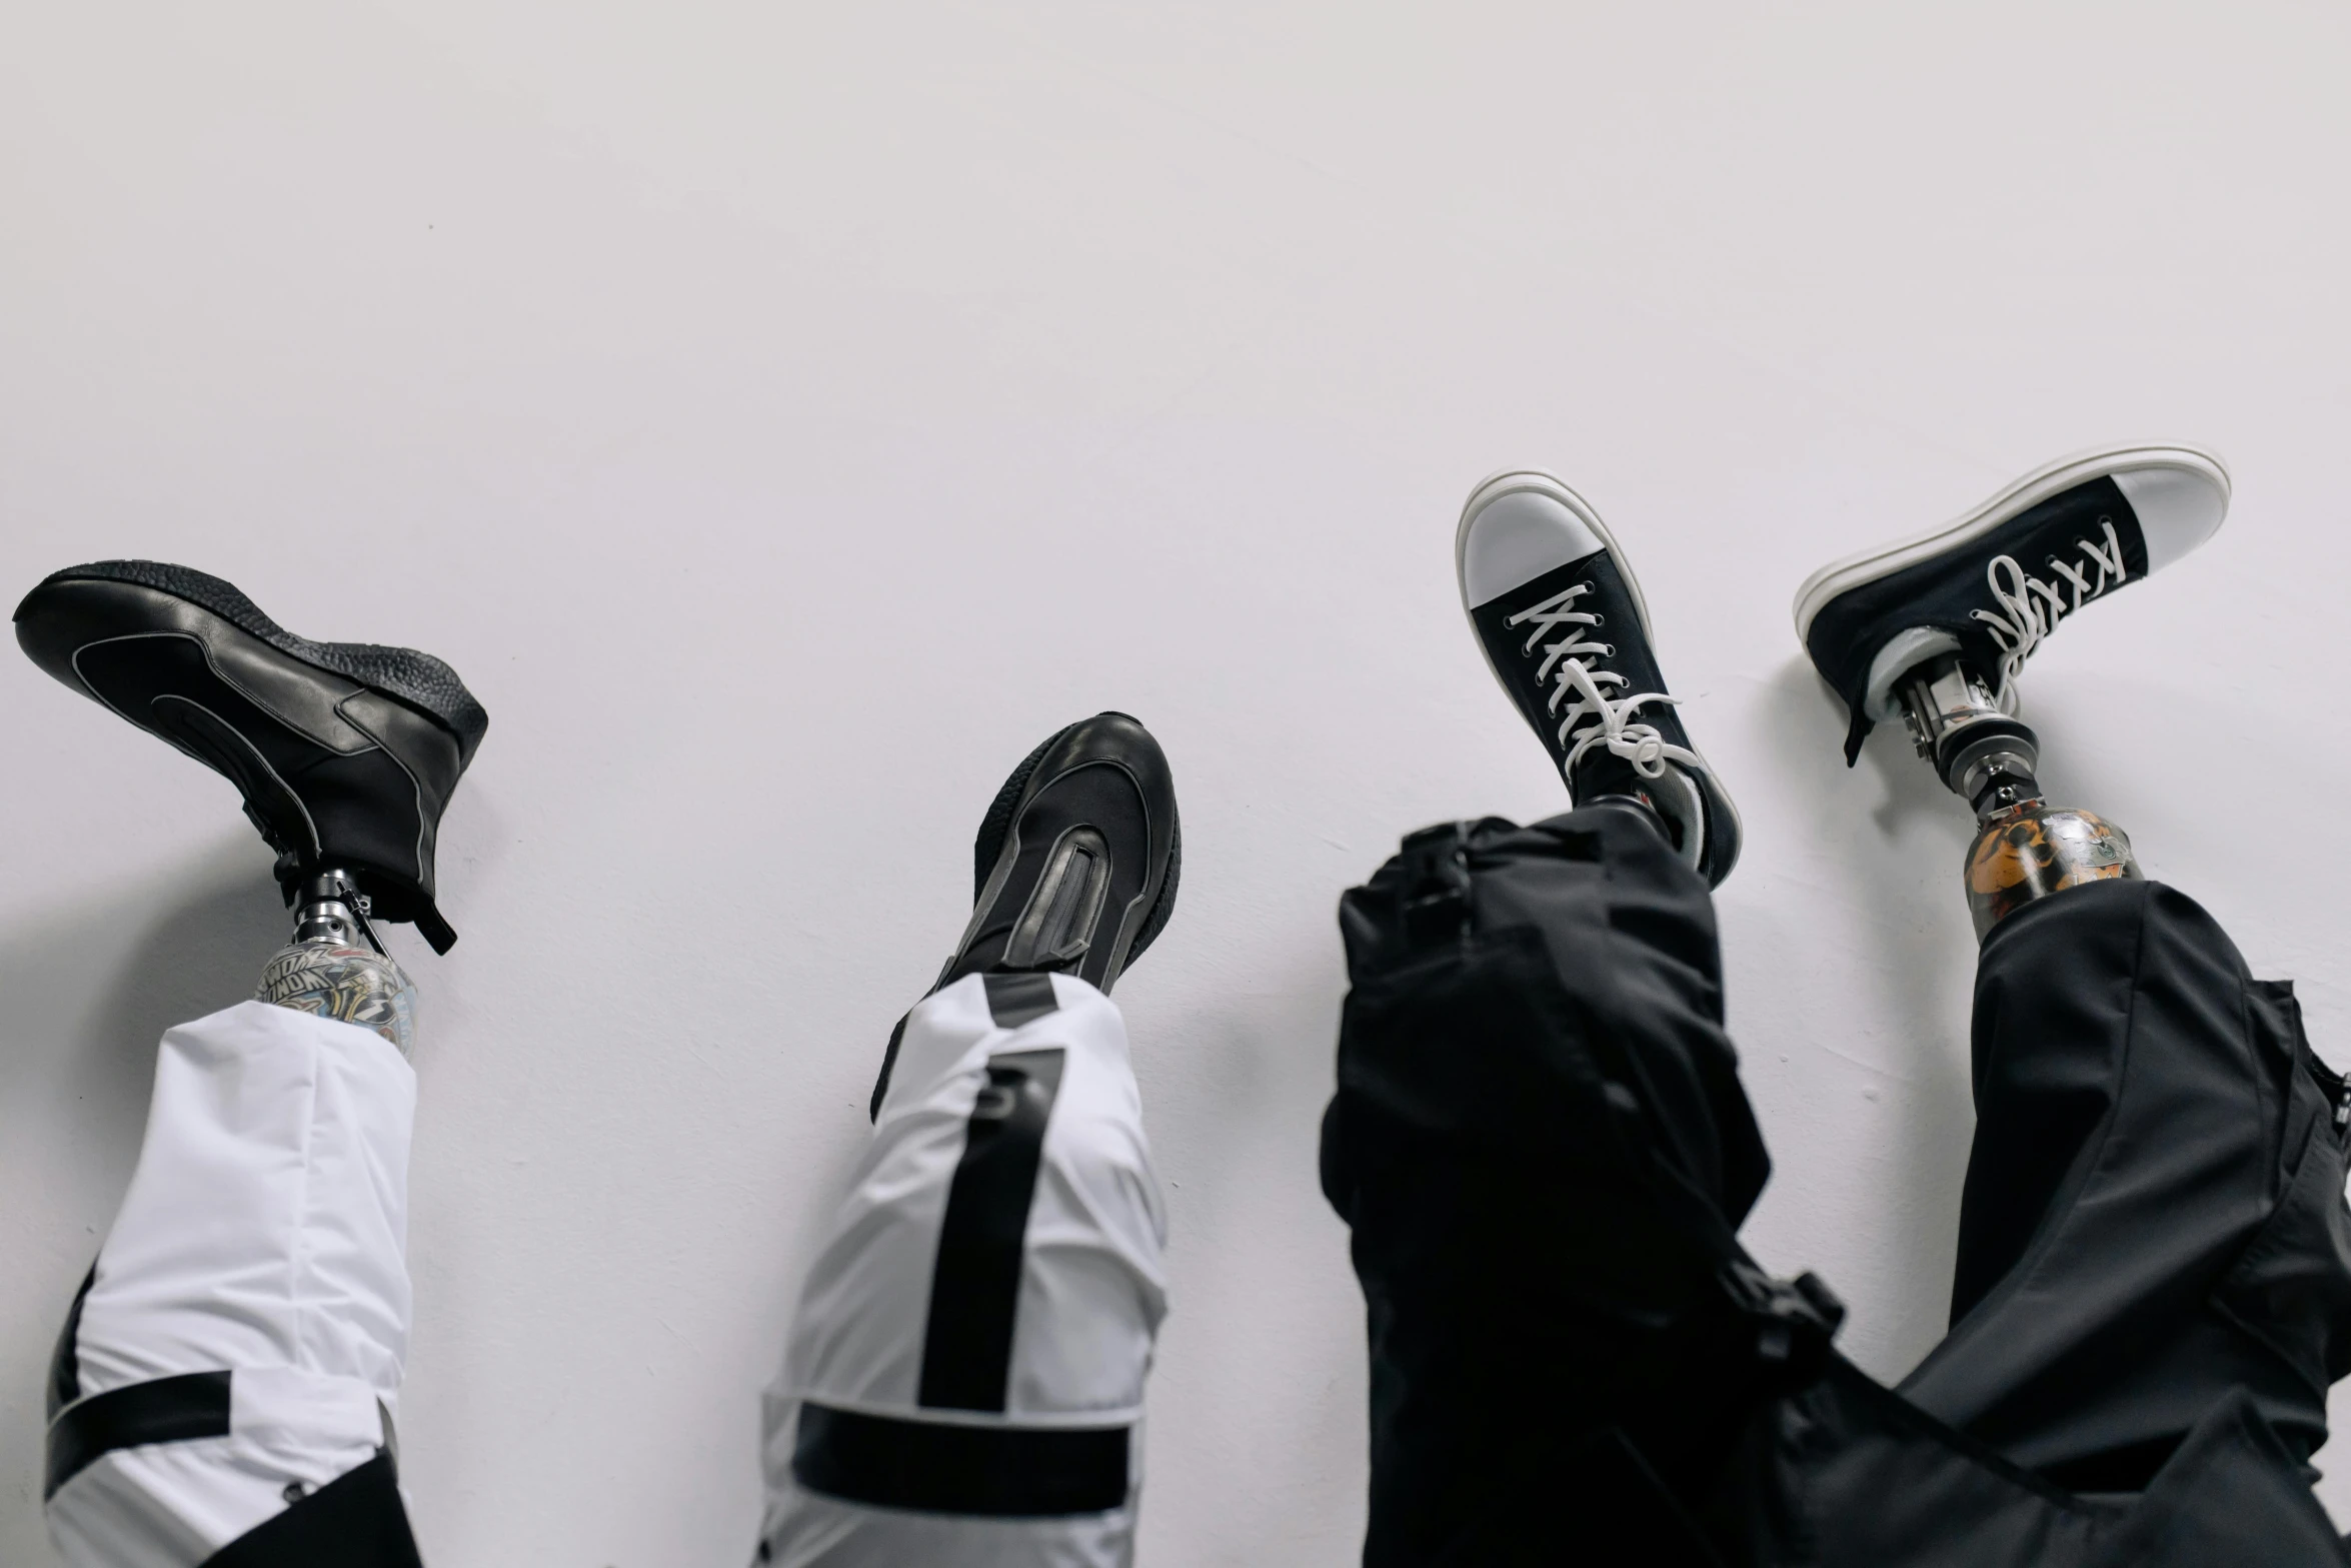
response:
<path fill-rule="evenodd" d="M 310 879 L 254 1001 L 162 1039 L 139 1171 L 49 1378 L 75 1568 L 416 1568 L 393 1410 L 409 1331 L 414 987 Z"/>

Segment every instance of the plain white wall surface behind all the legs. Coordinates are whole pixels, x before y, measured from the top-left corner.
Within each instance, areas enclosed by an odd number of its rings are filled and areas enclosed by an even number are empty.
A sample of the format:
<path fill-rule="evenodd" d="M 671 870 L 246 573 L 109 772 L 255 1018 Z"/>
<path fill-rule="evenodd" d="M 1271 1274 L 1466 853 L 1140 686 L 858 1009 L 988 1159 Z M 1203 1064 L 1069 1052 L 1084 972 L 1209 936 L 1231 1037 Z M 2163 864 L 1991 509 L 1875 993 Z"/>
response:
<path fill-rule="evenodd" d="M 0 7 L 0 590 L 190 562 L 494 719 L 465 940 L 402 933 L 428 1556 L 745 1561 L 755 1392 L 969 835 L 1119 705 L 1190 851 L 1119 994 L 1176 1187 L 1145 1561 L 1352 1559 L 1331 910 L 1408 827 L 1559 804 L 1453 597 L 1502 463 L 1625 536 L 1744 806 L 1749 1239 L 1869 1368 L 1949 1288 L 1968 820 L 1893 733 L 1838 766 L 1787 621 L 1824 557 L 2219 447 L 2229 527 L 2029 717 L 2344 1060 L 2346 66 L 2285 0 Z M 0 733 L 0 1561 L 40 1563 L 153 1037 L 284 919 L 226 783 L 14 658 Z"/>

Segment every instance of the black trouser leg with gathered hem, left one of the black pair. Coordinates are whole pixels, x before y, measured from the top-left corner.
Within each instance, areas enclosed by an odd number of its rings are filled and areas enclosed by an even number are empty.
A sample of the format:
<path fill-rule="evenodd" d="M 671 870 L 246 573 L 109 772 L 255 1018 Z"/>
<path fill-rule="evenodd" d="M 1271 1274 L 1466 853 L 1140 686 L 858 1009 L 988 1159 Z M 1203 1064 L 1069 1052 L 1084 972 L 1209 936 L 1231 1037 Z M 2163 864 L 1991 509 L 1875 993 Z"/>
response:
<path fill-rule="evenodd" d="M 1324 1192 L 1371 1326 L 1371 1568 L 1714 1561 L 1763 1187 L 1704 884 L 1615 809 L 1406 842 L 1340 910 Z M 1573 1521 L 1575 1542 L 1561 1540 Z"/>

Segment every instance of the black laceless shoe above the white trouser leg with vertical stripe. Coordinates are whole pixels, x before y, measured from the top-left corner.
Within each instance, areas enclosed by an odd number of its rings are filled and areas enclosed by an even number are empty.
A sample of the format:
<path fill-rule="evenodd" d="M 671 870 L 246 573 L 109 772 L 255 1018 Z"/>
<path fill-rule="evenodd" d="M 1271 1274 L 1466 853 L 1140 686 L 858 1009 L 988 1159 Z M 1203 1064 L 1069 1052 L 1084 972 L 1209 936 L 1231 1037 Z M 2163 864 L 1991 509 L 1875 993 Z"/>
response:
<path fill-rule="evenodd" d="M 1124 712 L 1070 724 L 997 790 L 971 860 L 971 924 L 933 992 L 973 973 L 1053 971 L 1107 992 L 1176 912 L 1183 830 L 1166 752 Z M 882 1114 L 903 1034 L 900 1018 L 882 1056 L 872 1114 Z"/>

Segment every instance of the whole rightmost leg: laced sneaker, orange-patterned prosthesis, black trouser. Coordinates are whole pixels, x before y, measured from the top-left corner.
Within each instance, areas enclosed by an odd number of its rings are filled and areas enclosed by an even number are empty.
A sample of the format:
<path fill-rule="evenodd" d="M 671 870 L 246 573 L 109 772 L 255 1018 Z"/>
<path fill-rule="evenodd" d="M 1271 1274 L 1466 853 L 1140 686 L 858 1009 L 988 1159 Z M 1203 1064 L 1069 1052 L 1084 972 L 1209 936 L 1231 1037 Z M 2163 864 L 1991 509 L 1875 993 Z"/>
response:
<path fill-rule="evenodd" d="M 1900 717 L 1980 823 L 1951 1331 L 1900 1389 L 1834 1366 L 1782 1413 L 1801 1561 L 2351 1561 L 2306 1469 L 2351 1373 L 2351 1091 L 2290 983 L 2045 799 L 2015 717 L 2038 644 L 2226 501 L 2210 454 L 2116 447 L 1799 590 L 1848 762 Z"/>

